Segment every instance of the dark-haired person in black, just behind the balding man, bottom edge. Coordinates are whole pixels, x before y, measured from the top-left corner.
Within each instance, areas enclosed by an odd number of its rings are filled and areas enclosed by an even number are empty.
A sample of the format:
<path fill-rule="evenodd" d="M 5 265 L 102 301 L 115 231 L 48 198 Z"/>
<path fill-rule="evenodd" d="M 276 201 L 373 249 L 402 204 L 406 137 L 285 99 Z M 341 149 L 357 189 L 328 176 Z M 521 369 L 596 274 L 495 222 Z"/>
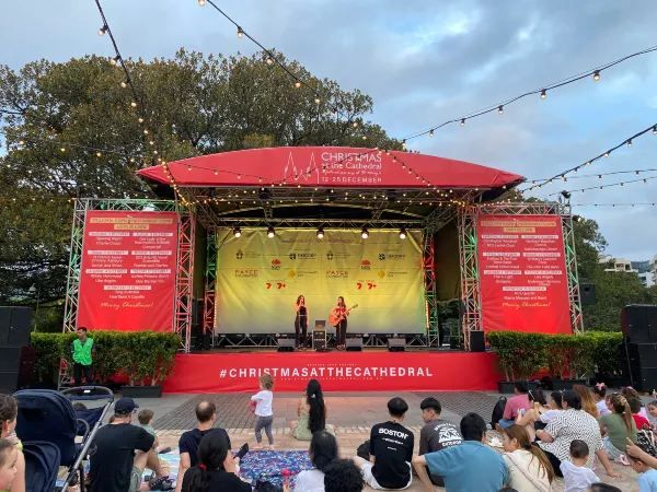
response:
<path fill-rule="evenodd" d="M 251 485 L 237 475 L 235 460 L 226 435 L 210 432 L 198 444 L 198 462 L 182 480 L 183 492 L 251 492 Z"/>

